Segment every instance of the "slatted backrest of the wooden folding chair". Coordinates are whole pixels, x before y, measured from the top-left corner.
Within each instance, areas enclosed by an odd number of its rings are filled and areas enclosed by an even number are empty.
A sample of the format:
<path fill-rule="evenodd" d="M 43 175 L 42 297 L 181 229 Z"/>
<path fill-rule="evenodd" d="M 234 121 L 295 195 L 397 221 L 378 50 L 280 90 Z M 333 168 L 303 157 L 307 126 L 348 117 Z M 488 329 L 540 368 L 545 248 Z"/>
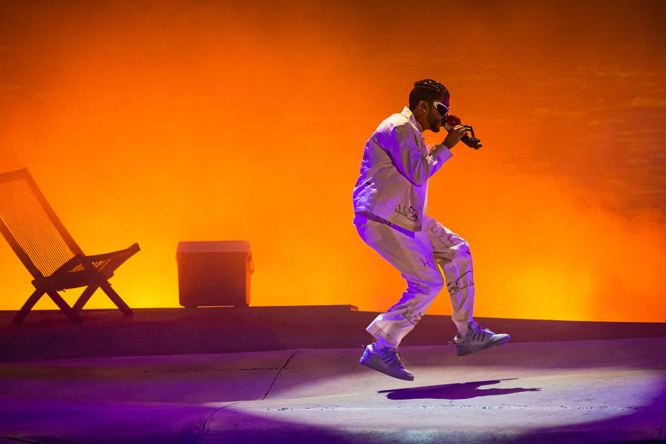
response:
<path fill-rule="evenodd" d="M 26 168 L 0 174 L 0 232 L 34 278 L 83 254 Z"/>

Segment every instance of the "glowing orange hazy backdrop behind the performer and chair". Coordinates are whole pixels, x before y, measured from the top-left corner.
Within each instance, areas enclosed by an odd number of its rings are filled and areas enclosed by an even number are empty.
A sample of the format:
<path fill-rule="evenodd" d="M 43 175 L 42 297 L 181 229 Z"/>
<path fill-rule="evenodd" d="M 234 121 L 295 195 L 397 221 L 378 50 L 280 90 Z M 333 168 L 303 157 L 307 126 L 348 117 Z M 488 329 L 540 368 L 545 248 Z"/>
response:
<path fill-rule="evenodd" d="M 352 187 L 434 78 L 484 144 L 429 190 L 472 246 L 475 314 L 666 322 L 664 5 L 3 2 L 0 171 L 28 167 L 86 253 L 139 242 L 111 281 L 130 307 L 178 306 L 178 241 L 246 239 L 252 305 L 383 311 L 404 282 Z M 0 309 L 30 280 L 2 242 Z"/>

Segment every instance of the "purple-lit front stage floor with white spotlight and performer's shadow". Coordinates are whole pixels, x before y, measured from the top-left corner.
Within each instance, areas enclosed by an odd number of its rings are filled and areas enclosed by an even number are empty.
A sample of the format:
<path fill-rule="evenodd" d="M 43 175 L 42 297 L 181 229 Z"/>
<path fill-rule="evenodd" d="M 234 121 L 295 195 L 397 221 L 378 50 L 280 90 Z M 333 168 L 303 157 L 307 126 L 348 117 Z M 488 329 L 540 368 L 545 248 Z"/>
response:
<path fill-rule="evenodd" d="M 0 443 L 658 443 L 666 337 L 0 364 Z"/>

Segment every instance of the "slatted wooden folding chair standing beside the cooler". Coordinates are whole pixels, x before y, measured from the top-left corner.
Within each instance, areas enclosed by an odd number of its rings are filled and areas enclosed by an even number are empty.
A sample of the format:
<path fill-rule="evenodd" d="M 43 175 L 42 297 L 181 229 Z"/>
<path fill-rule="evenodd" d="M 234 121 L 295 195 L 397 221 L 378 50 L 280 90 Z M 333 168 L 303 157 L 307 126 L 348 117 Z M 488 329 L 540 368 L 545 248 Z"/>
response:
<path fill-rule="evenodd" d="M 80 323 L 78 311 L 99 288 L 124 314 L 133 314 L 108 280 L 139 251 L 139 244 L 113 253 L 84 255 L 26 168 L 0 174 L 0 232 L 34 278 L 35 291 L 13 323 L 21 323 L 44 293 L 72 322 Z M 58 291 L 78 287 L 86 288 L 69 307 Z"/>

